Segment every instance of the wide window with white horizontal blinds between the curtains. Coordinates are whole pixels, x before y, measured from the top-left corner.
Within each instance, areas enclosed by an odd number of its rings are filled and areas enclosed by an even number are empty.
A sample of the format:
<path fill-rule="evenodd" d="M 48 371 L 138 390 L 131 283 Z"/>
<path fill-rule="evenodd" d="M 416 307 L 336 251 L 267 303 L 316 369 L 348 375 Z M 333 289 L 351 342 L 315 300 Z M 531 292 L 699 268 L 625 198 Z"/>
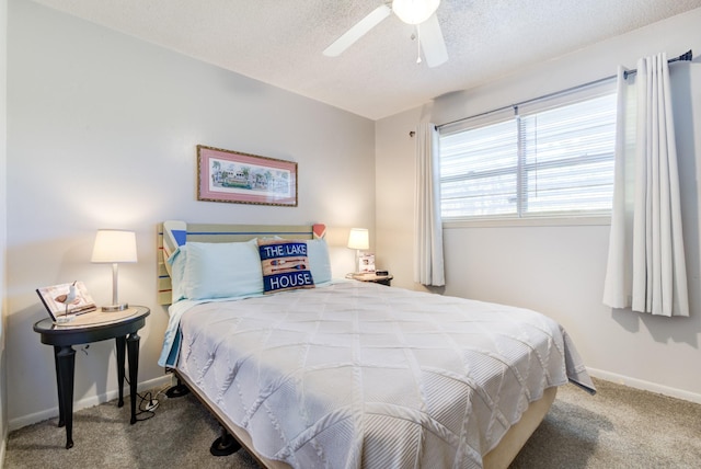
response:
<path fill-rule="evenodd" d="M 610 214 L 613 84 L 607 80 L 443 126 L 443 218 Z"/>

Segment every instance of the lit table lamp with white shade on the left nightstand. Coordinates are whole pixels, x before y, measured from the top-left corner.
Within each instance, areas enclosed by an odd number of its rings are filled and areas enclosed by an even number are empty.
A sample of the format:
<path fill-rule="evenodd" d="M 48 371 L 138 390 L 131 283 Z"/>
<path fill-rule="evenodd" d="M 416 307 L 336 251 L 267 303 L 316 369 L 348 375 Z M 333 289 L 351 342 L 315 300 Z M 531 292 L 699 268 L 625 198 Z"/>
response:
<path fill-rule="evenodd" d="M 91 262 L 112 264 L 112 305 L 103 306 L 103 311 L 122 311 L 126 302 L 117 300 L 117 268 L 123 262 L 136 262 L 136 233 L 125 230 L 97 230 Z"/>

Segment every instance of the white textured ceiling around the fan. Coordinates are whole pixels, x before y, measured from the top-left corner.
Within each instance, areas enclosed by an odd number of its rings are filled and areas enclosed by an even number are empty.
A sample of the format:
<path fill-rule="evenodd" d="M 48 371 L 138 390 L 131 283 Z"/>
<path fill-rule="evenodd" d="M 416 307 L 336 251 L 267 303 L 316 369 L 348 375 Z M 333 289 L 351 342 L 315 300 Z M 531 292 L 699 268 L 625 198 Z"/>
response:
<path fill-rule="evenodd" d="M 390 15 L 343 55 L 322 50 L 382 0 L 34 0 L 378 119 L 675 14 L 701 0 L 443 0 L 449 60 L 416 64 Z"/>

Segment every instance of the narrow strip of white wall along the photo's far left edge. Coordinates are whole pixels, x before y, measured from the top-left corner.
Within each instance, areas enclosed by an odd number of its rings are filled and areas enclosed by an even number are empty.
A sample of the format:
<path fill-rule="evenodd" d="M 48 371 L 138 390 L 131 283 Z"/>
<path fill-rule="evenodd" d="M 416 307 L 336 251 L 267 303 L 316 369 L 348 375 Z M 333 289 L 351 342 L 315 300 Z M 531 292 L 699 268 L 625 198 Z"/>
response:
<path fill-rule="evenodd" d="M 8 2 L 0 0 L 0 467 L 4 460 L 4 448 L 8 441 L 8 391 L 7 391 L 7 354 L 5 354 L 5 245 L 8 204 L 4 188 L 8 165 L 8 101 L 7 101 L 7 65 L 8 35 L 4 33 L 8 24 Z"/>

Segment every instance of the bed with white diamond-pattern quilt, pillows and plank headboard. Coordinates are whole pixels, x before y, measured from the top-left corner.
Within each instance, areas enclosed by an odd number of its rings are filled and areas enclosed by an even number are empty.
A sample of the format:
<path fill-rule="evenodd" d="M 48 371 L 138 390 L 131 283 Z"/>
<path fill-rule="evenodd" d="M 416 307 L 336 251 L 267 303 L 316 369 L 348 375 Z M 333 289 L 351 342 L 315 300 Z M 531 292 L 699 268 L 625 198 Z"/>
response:
<path fill-rule="evenodd" d="M 505 468 L 558 386 L 595 392 L 545 316 L 333 278 L 323 234 L 159 229 L 159 298 L 171 304 L 159 364 L 262 466 Z M 297 256 L 267 259 L 280 245 Z M 291 279 L 276 278 L 290 265 Z"/>

